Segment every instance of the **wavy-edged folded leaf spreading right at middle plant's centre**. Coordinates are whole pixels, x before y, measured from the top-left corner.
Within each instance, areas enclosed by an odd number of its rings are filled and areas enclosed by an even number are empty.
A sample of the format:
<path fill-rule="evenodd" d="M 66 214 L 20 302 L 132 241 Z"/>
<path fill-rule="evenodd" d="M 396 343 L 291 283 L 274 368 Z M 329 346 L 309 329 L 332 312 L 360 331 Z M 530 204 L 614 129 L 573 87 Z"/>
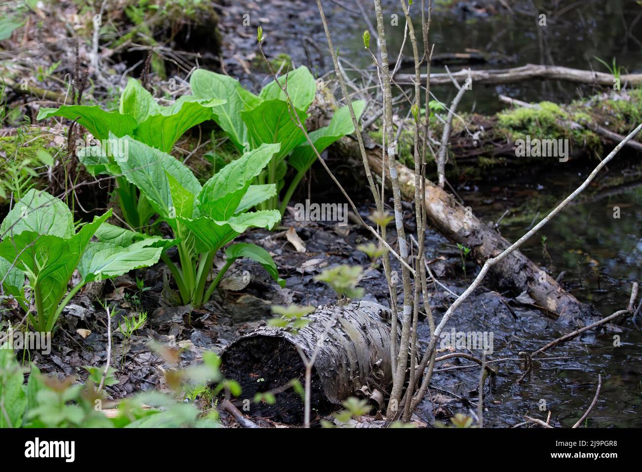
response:
<path fill-rule="evenodd" d="M 281 213 L 277 210 L 242 213 L 231 216 L 227 222 L 218 222 L 207 216 L 193 220 L 188 218 L 179 218 L 179 220 L 196 236 L 199 242 L 196 250 L 209 252 L 221 249 L 249 227 L 272 229 L 273 225 L 281 221 Z"/>

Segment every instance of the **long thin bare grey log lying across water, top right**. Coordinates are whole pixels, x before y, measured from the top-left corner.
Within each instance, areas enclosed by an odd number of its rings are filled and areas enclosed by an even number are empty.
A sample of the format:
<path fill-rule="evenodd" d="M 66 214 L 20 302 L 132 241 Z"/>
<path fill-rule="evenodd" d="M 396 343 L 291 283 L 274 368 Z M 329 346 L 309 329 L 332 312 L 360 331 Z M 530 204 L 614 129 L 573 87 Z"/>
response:
<path fill-rule="evenodd" d="M 512 67 L 510 69 L 486 69 L 471 70 L 461 69 L 455 73 L 432 73 L 430 74 L 430 85 L 446 85 L 452 83 L 451 76 L 458 81 L 464 81 L 468 77 L 473 83 L 515 83 L 532 79 L 547 80 L 567 80 L 569 82 L 594 83 L 596 85 L 607 85 L 612 87 L 614 82 L 613 74 L 595 71 L 583 71 L 582 69 L 572 69 L 571 67 L 562 66 L 542 66 L 539 64 L 526 64 L 526 66 Z M 413 83 L 414 74 L 400 74 L 394 76 L 397 83 Z M 421 74 L 421 81 L 426 82 L 426 74 Z M 622 74 L 620 76 L 620 86 L 624 87 L 625 83 L 629 86 L 642 84 L 642 74 Z"/>

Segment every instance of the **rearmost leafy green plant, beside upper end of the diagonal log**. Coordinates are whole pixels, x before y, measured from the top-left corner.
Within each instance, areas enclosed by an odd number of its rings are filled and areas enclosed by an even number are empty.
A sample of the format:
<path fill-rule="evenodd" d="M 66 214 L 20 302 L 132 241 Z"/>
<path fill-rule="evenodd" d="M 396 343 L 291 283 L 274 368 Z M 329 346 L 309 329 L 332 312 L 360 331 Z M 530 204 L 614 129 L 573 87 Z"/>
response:
<path fill-rule="evenodd" d="M 256 183 L 274 184 L 277 192 L 265 200 L 260 208 L 279 209 L 283 214 L 300 180 L 317 159 L 304 133 L 293 120 L 296 114 L 300 122 L 305 124 L 307 111 L 315 99 L 317 83 L 305 66 L 282 76 L 279 82 L 286 87 L 290 100 L 275 81 L 265 85 L 259 95 L 255 95 L 244 89 L 238 80 L 204 69 L 196 70 L 190 78 L 195 97 L 201 100 L 225 100 L 225 103 L 212 107 L 213 119 L 239 150 L 253 150 L 261 144 L 281 144 L 266 169 L 257 175 Z M 353 107 L 357 119 L 360 118 L 365 102 L 354 101 Z M 320 153 L 340 137 L 352 132 L 354 125 L 350 111 L 343 107 L 334 112 L 329 125 L 309 133 L 309 137 Z M 288 164 L 296 173 L 279 202 Z"/>

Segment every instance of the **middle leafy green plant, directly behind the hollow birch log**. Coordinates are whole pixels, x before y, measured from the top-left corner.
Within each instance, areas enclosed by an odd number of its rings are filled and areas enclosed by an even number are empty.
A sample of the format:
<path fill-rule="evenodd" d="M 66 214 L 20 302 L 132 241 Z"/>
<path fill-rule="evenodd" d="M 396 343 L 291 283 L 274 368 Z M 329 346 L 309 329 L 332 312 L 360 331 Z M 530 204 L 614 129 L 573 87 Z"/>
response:
<path fill-rule="evenodd" d="M 150 205 L 150 213 L 158 215 L 155 224 L 166 222 L 177 238 L 178 265 L 166 254 L 162 258 L 171 270 L 184 304 L 201 306 L 207 302 L 223 274 L 238 258 L 257 261 L 284 286 L 270 254 L 248 243 L 228 247 L 225 266 L 208 281 L 219 249 L 249 227 L 271 229 L 281 219 L 274 210 L 247 211 L 275 195 L 273 184 L 252 185 L 252 180 L 279 152 L 280 144 L 262 144 L 230 162 L 201 185 L 192 171 L 171 155 L 130 136 L 119 139 L 126 141 L 128 155 L 120 155 L 119 146 L 114 153 L 114 163 L 103 162 L 102 170 L 121 175 L 136 188 Z M 126 232 L 116 227 L 110 229 L 115 233 L 112 238 L 121 236 L 117 231 Z"/>

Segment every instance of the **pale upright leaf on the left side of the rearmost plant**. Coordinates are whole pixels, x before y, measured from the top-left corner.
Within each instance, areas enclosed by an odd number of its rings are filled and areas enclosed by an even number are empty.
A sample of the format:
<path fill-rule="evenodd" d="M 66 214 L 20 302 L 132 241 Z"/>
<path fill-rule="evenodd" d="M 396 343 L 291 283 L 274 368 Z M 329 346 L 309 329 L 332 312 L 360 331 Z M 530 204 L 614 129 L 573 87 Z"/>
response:
<path fill-rule="evenodd" d="M 236 146 L 243 149 L 247 141 L 247 127 L 241 119 L 241 112 L 256 107 L 261 99 L 243 89 L 238 80 L 204 69 L 196 69 L 192 73 L 189 85 L 197 98 L 218 98 L 226 101 L 225 104 L 212 108 L 214 120 Z"/>

